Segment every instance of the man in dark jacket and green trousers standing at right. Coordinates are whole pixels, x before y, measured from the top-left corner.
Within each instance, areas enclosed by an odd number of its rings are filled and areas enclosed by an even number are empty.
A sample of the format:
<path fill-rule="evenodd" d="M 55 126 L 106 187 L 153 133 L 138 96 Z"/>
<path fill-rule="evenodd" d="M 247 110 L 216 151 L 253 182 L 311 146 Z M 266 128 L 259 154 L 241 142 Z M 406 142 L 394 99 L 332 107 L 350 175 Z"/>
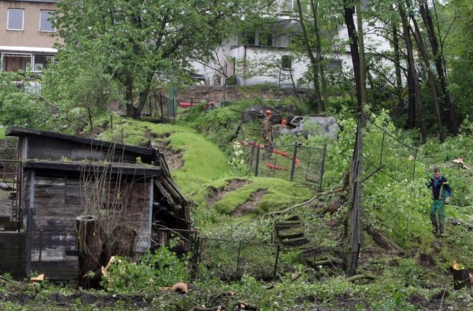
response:
<path fill-rule="evenodd" d="M 450 203 L 451 188 L 447 178 L 440 174 L 440 169 L 433 169 L 433 176 L 430 178 L 427 187 L 432 187 L 432 203 L 430 205 L 430 219 L 432 221 L 433 234 L 438 234 L 436 212 L 440 223 L 440 237 L 445 237 L 445 204 Z"/>

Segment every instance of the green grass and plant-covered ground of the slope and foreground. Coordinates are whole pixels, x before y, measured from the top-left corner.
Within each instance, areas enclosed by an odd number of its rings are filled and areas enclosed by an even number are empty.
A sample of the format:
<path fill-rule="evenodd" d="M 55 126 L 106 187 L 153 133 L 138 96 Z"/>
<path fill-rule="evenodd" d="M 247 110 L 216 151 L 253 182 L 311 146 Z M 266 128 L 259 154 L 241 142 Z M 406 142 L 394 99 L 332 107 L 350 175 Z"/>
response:
<path fill-rule="evenodd" d="M 241 107 L 240 107 L 241 108 Z M 235 109 L 234 109 L 235 110 Z M 191 110 L 183 116 L 190 126 L 162 125 L 114 116 L 96 119 L 94 135 L 103 140 L 123 140 L 128 144 L 159 146 L 173 157 L 172 175 L 180 190 L 191 201 L 193 226 L 207 237 L 273 243 L 275 212 L 287 210 L 314 196 L 313 190 L 277 178 L 254 177 L 239 161 L 232 135 L 239 114 L 231 108 L 204 113 Z M 406 144 L 415 144 L 413 133 L 398 131 L 386 113 L 372 115 Z M 352 156 L 356 120 L 348 113 L 338 115 L 343 131 L 327 149 L 324 190 L 341 187 L 343 174 Z M 255 124 L 243 125 L 239 138 L 252 139 Z M 123 129 L 123 131 L 122 131 Z M 18 282 L 2 276 L 1 310 L 233 310 L 244 302 L 259 310 L 469 310 L 473 308 L 470 289 L 453 290 L 448 267 L 459 262 L 473 267 L 473 233 L 462 226 L 447 224 L 447 237 L 435 237 L 429 223 L 429 190 L 424 186 L 432 167 L 440 167 L 454 191 L 447 217 L 473 223 L 472 169 L 460 169 L 451 162 L 463 158 L 468 167 L 473 159 L 473 126 L 463 124 L 462 134 L 444 144 L 435 139 L 419 147 L 414 178 L 397 182 L 376 174 L 363 184 L 363 222 L 375 228 L 399 249 L 382 246 L 365 233 L 358 274 L 352 280 L 340 270 L 308 267 L 294 262 L 291 271 L 275 280 L 262 281 L 252 276 L 223 282 L 212 269 L 203 270 L 198 279 L 173 253 L 162 249 L 146 254 L 139 263 L 123 259 L 114 264 L 103 289 L 87 291 L 73 284 Z M 244 137 L 241 137 L 243 135 Z M 377 142 L 375 131 L 368 140 Z M 303 144 L 316 146 L 325 138 L 298 137 Z M 293 143 L 294 137 L 278 137 L 278 142 Z M 366 149 L 365 152 L 370 151 Z M 397 163 L 395 154 L 386 159 Z M 257 199 L 255 194 L 258 193 Z M 327 213 L 334 194 L 326 194 L 291 210 L 304 224 L 307 238 L 314 244 L 331 246 L 345 241 L 346 201 Z M 251 204 L 247 204 L 252 200 Z M 239 212 L 245 205 L 246 212 Z M 166 269 L 152 269 L 166 267 Z M 171 273 L 172 271 L 172 273 Z M 47 276 L 46 276 L 47 278 Z M 189 292 L 164 290 L 175 282 L 187 282 Z M 241 305 L 241 304 L 240 304 Z"/>

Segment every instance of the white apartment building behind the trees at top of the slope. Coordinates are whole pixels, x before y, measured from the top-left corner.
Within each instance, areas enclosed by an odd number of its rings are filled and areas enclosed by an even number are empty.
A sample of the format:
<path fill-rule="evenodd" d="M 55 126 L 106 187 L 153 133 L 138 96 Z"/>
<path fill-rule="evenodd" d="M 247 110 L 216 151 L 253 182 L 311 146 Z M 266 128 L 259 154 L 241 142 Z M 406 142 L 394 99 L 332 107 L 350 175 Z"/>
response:
<path fill-rule="evenodd" d="M 368 0 L 363 0 L 362 4 Z M 294 10 L 294 0 L 278 0 L 277 10 Z M 275 8 L 276 10 L 276 8 Z M 304 83 L 309 58 L 301 56 L 291 60 L 287 49 L 293 37 L 300 34 L 300 24 L 289 17 L 279 17 L 278 23 L 271 23 L 265 29 L 251 33 L 235 34 L 216 51 L 217 60 L 210 64 L 193 62 L 198 76 L 205 78 L 208 85 L 223 85 L 224 76 L 236 75 L 239 85 L 256 85 L 270 83 L 280 86 L 311 87 Z M 354 15 L 356 23 L 356 14 Z M 388 51 L 389 42 L 376 34 L 376 26 L 363 25 L 366 53 L 371 50 Z M 348 44 L 347 27 L 337 26 L 332 33 L 332 40 L 338 48 L 324 53 L 325 69 L 351 69 L 352 60 Z M 315 53 L 315 51 L 314 51 Z"/>

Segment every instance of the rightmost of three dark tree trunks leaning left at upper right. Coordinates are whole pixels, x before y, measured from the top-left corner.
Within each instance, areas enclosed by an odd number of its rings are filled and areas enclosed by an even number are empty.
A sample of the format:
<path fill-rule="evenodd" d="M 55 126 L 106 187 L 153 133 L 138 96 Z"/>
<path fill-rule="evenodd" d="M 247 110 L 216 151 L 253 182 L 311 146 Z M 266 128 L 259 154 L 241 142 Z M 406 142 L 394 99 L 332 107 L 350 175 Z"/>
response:
<path fill-rule="evenodd" d="M 451 94 L 447 87 L 447 79 L 445 78 L 444 70 L 445 59 L 443 58 L 442 51 L 439 51 L 438 48 L 438 40 L 435 30 L 433 28 L 432 16 L 430 14 L 427 1 L 421 0 L 419 3 L 419 7 L 425 28 L 427 28 L 427 33 L 429 33 L 429 40 L 432 47 L 433 56 L 436 60 L 436 70 L 438 78 L 440 79 L 440 87 L 442 87 L 442 92 L 445 95 L 445 106 L 447 106 L 447 124 L 449 126 L 449 131 L 452 134 L 456 135 L 458 134 L 458 117 L 456 116 L 455 107 L 451 101 Z"/>

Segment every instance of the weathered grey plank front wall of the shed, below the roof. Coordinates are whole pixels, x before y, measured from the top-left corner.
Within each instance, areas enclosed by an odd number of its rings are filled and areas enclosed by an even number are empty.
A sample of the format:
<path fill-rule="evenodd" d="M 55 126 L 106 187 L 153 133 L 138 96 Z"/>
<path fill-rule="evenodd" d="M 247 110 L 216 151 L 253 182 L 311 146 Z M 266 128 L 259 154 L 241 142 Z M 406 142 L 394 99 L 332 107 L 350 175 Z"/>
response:
<path fill-rule="evenodd" d="M 92 183 L 81 188 L 79 178 L 35 176 L 33 226 L 30 227 L 33 229 L 30 233 L 32 271 L 47 271 L 53 279 L 77 277 L 75 218 L 85 210 L 87 188 L 89 195 L 98 196 L 94 187 Z M 149 246 L 149 238 L 144 238 L 149 236 L 149 178 L 135 183 L 108 182 L 98 187 L 105 188 L 105 199 L 93 201 L 103 205 L 100 213 L 107 233 L 117 224 L 126 224 L 137 230 L 135 251 L 144 251 Z M 107 209 L 118 203 L 119 209 Z"/>

